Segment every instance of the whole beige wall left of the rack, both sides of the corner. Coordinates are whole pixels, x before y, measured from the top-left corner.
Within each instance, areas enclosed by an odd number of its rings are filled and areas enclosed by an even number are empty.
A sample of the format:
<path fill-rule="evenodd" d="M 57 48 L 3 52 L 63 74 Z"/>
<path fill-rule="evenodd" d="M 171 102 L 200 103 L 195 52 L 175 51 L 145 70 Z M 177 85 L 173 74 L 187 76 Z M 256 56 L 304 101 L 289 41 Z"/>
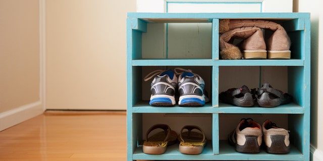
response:
<path fill-rule="evenodd" d="M 136 1 L 0 0 L 0 131 L 45 109 L 126 109 Z"/>

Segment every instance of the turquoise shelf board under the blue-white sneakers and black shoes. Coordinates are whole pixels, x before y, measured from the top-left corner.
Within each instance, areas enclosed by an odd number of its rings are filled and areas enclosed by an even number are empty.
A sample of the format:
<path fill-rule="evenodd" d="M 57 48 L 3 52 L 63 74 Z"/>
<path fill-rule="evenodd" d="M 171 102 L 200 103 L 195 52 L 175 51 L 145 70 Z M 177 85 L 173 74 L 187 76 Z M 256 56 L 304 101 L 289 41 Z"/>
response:
<path fill-rule="evenodd" d="M 304 114 L 304 107 L 290 103 L 278 107 L 237 107 L 225 103 L 219 106 L 212 106 L 206 103 L 202 107 L 181 107 L 178 105 L 171 107 L 150 106 L 148 101 L 141 101 L 131 108 L 133 113 L 219 113 L 219 114 Z"/>

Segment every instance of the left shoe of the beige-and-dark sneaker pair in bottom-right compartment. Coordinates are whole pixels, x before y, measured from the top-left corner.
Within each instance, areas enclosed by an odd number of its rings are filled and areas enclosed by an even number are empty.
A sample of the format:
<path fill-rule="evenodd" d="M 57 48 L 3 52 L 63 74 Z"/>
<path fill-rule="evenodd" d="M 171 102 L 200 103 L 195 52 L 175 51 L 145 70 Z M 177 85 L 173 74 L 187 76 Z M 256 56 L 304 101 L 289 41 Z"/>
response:
<path fill-rule="evenodd" d="M 237 128 L 228 135 L 228 141 L 235 146 L 238 152 L 260 152 L 262 142 L 261 126 L 251 118 L 243 118 Z"/>

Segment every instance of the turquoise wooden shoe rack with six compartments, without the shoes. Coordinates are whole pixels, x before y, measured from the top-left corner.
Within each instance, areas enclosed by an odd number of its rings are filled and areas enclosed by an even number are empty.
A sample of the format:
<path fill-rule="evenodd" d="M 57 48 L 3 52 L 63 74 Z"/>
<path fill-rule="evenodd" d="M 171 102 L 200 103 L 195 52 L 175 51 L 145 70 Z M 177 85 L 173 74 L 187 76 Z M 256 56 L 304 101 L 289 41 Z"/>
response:
<path fill-rule="evenodd" d="M 284 27 L 291 39 L 291 59 L 222 60 L 219 57 L 220 19 L 261 19 Z M 189 33 L 189 34 L 187 34 Z M 264 31 L 264 37 L 271 35 Z M 192 40 L 192 41 L 191 41 Z M 156 69 L 183 67 L 200 74 L 210 102 L 203 107 L 152 107 L 151 80 Z M 293 96 L 293 102 L 274 108 L 236 107 L 222 103 L 219 93 L 269 82 Z M 309 160 L 310 19 L 308 13 L 128 13 L 127 18 L 127 159 L 128 160 Z M 228 144 L 241 118 L 258 123 L 269 118 L 290 131 L 288 154 L 239 153 Z M 179 152 L 178 144 L 164 154 L 142 151 L 147 129 L 166 123 L 179 133 L 182 126 L 201 126 L 208 142 L 201 154 Z"/>

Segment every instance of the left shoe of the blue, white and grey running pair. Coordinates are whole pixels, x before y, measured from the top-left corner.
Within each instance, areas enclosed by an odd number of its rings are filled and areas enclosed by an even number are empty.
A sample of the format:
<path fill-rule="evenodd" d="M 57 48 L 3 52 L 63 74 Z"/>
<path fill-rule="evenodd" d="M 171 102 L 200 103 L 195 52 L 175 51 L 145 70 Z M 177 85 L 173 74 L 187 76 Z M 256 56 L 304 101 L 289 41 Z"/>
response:
<path fill-rule="evenodd" d="M 149 105 L 174 106 L 176 104 L 175 91 L 177 88 L 177 76 L 174 71 L 155 70 L 145 76 L 144 81 L 148 81 L 153 76 L 155 77 L 150 84 L 151 96 Z"/>

